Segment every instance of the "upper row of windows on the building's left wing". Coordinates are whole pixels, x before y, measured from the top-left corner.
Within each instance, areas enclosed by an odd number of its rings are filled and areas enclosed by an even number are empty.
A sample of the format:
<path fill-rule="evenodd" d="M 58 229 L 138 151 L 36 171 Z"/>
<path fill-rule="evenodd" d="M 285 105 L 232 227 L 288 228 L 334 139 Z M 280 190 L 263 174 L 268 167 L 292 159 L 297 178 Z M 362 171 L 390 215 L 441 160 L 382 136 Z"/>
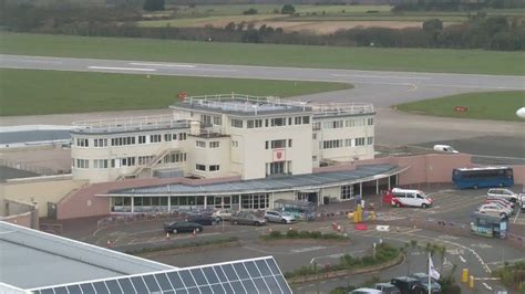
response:
<path fill-rule="evenodd" d="M 103 148 L 107 146 L 128 146 L 136 144 L 154 144 L 162 141 L 173 140 L 186 140 L 186 133 L 174 133 L 174 134 L 153 134 L 153 135 L 140 135 L 140 136 L 123 136 L 115 138 L 76 138 L 73 144 L 76 147 L 97 147 Z"/>

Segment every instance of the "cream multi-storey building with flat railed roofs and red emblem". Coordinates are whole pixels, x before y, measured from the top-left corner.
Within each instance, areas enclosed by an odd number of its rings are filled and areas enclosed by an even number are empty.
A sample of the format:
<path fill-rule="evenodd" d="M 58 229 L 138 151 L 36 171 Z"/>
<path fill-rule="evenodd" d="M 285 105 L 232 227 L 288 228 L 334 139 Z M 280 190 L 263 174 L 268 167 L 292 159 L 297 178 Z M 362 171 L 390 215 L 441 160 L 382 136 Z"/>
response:
<path fill-rule="evenodd" d="M 72 174 L 91 182 L 142 177 L 243 180 L 308 175 L 373 158 L 371 104 L 276 97 L 186 97 L 171 116 L 75 123 Z"/>

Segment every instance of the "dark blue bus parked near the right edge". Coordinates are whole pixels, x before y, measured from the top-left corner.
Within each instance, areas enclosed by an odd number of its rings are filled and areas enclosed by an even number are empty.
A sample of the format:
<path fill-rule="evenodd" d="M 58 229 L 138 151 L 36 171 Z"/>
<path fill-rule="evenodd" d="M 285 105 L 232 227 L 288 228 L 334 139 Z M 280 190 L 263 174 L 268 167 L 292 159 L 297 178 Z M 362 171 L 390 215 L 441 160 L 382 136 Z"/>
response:
<path fill-rule="evenodd" d="M 514 186 L 513 170 L 509 167 L 454 168 L 452 181 L 457 189 Z"/>

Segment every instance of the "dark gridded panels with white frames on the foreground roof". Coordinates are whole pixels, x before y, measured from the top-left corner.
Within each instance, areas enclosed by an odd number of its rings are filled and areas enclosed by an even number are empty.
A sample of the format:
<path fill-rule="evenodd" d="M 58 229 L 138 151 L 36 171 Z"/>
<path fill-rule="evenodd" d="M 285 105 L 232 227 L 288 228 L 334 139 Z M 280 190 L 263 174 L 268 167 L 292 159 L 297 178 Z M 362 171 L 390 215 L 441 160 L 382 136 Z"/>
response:
<path fill-rule="evenodd" d="M 105 281 L 56 285 L 35 293 L 187 293 L 187 294 L 291 294 L 274 258 L 167 270 Z"/>

